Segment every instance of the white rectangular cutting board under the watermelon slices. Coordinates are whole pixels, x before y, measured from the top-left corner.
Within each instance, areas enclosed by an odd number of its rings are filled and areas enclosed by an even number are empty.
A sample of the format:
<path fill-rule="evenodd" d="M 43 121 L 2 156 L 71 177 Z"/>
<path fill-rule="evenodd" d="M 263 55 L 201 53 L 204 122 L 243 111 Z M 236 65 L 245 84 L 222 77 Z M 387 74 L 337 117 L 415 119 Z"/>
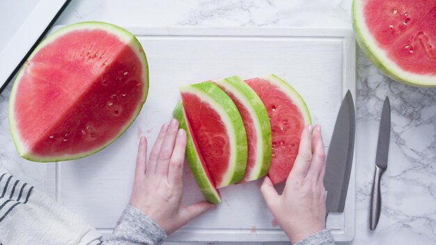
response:
<path fill-rule="evenodd" d="M 277 74 L 302 95 L 313 123 L 322 125 L 328 148 L 345 92 L 355 95 L 355 40 L 337 29 L 130 29 L 150 65 L 148 100 L 137 120 L 108 148 L 75 161 L 47 164 L 47 192 L 109 234 L 127 204 L 139 137 L 153 143 L 171 118 L 178 86 L 239 75 L 243 79 Z M 149 148 L 150 150 L 150 148 Z M 259 192 L 260 181 L 220 189 L 217 210 L 198 217 L 169 241 L 287 241 Z M 283 187 L 282 187 L 283 188 Z M 203 200 L 185 168 L 184 200 Z M 331 213 L 327 227 L 337 242 L 355 235 L 355 171 L 343 214 Z"/>

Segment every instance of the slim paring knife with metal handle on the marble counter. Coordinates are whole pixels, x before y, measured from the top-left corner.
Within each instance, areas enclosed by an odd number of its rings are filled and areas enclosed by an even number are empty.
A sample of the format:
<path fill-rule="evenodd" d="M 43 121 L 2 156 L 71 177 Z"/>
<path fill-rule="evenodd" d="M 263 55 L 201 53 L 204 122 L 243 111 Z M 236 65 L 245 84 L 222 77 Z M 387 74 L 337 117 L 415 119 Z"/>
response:
<path fill-rule="evenodd" d="M 375 230 L 380 218 L 382 196 L 380 195 L 380 177 L 387 168 L 387 156 L 389 154 L 389 138 L 391 136 L 391 104 L 389 97 L 383 103 L 382 118 L 378 132 L 377 155 L 375 156 L 375 173 L 373 190 L 371 191 L 371 208 L 369 212 L 369 228 Z"/>

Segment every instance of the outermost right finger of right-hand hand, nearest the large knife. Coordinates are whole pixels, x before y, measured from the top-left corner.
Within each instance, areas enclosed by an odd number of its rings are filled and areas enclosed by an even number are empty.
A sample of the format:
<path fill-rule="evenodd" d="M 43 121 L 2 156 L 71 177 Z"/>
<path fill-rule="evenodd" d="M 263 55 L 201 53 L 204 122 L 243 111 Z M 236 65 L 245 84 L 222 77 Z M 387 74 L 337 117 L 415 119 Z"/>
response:
<path fill-rule="evenodd" d="M 325 165 L 325 150 L 324 143 L 322 143 L 320 125 L 316 125 L 315 127 L 313 127 L 312 145 L 313 156 L 308 175 L 318 181 L 320 173 L 322 171 L 322 166 Z"/>

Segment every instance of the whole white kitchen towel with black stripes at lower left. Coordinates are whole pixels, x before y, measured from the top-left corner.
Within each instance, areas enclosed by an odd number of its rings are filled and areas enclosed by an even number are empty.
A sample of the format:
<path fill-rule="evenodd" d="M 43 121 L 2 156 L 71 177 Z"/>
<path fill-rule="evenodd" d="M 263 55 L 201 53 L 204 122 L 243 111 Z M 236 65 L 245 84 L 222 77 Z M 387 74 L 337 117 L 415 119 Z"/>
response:
<path fill-rule="evenodd" d="M 0 245 L 95 245 L 101 237 L 56 200 L 0 172 Z"/>

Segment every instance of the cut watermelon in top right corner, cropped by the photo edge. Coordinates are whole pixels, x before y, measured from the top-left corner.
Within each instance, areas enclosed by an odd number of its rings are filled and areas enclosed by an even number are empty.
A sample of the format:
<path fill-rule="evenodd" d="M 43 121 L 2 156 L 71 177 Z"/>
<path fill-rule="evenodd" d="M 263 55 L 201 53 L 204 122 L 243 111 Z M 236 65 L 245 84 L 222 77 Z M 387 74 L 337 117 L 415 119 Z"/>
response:
<path fill-rule="evenodd" d="M 436 86 L 436 1 L 354 0 L 356 39 L 392 79 Z"/>

